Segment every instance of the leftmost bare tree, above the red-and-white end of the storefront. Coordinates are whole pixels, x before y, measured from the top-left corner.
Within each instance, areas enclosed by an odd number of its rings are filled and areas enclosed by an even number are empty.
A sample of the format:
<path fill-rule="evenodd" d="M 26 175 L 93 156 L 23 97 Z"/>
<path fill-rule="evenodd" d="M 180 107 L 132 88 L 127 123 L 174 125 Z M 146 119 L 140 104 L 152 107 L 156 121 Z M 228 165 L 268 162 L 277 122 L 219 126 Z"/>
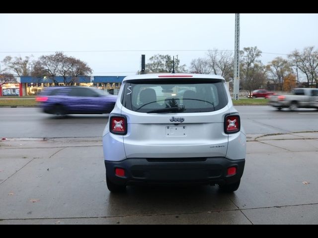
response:
<path fill-rule="evenodd" d="M 25 59 L 22 59 L 21 57 L 12 58 L 11 56 L 6 56 L 2 62 L 6 66 L 5 70 L 12 71 L 18 76 L 28 76 L 30 75 L 31 57 L 27 56 Z"/>

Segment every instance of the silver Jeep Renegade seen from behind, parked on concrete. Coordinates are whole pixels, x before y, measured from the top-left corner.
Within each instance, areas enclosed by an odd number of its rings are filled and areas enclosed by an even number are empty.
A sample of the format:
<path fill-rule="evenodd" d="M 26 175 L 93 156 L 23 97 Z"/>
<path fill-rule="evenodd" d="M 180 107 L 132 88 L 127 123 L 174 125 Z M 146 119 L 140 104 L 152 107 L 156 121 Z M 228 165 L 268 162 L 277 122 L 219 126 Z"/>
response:
<path fill-rule="evenodd" d="M 103 132 L 110 191 L 133 184 L 239 188 L 246 135 L 225 79 L 206 74 L 124 78 Z"/>

